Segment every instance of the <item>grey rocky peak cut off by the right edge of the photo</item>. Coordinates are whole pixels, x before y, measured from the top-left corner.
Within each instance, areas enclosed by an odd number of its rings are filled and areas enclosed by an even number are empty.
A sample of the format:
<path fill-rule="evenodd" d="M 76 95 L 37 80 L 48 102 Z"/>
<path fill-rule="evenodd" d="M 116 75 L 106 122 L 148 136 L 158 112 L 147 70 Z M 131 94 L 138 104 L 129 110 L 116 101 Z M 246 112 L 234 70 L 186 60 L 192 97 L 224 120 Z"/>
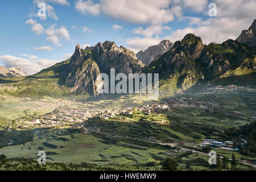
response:
<path fill-rule="evenodd" d="M 248 30 L 243 30 L 236 39 L 237 42 L 247 44 L 248 46 L 256 46 L 256 19 Z"/>

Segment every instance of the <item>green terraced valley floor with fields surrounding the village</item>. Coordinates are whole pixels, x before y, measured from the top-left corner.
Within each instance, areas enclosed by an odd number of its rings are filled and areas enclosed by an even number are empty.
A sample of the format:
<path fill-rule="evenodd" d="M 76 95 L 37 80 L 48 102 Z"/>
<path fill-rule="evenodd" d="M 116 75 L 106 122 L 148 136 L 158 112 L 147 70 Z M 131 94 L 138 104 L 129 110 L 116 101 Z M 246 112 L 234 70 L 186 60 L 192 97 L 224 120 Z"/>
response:
<path fill-rule="evenodd" d="M 1 126 L 5 130 L 0 131 L 2 140 L 0 154 L 7 156 L 7 162 L 1 163 L 0 169 L 36 169 L 23 168 L 24 165 L 19 159 L 28 159 L 26 165 L 30 166 L 31 163 L 33 166 L 39 157 L 38 152 L 43 150 L 47 155 L 47 170 L 64 168 L 70 170 L 160 170 L 160 162 L 167 157 L 177 160 L 179 170 L 186 169 L 188 162 L 190 163 L 189 169 L 213 170 L 214 168 L 208 163 L 207 148 L 200 147 L 204 138 L 222 141 L 230 139 L 237 146 L 242 144 L 245 150 L 247 145 L 250 144 L 251 147 L 251 141 L 247 141 L 246 136 L 223 138 L 222 133 L 231 127 L 253 122 L 252 118 L 256 110 L 256 89 L 207 90 L 182 97 L 193 97 L 197 100 L 217 103 L 221 109 L 210 112 L 205 108 L 181 106 L 179 109 L 163 110 L 153 114 L 137 111 L 135 114 L 118 113 L 109 118 L 95 115 L 86 118 L 85 122 L 79 122 L 82 126 L 79 128 L 77 128 L 77 123 L 69 123 L 65 127 L 42 129 L 33 126 L 24 130 L 13 127 L 16 123 L 23 121 L 20 118 L 32 119 L 52 113 L 57 108 L 63 108 L 57 105 L 63 102 L 46 98 L 43 101 L 27 100 L 20 103 L 19 98 L 2 97 L 2 110 L 0 111 L 6 115 L 1 115 L 3 116 Z M 160 103 L 168 100 L 175 100 L 175 98 L 167 97 L 154 102 Z M 40 107 L 39 102 L 42 102 L 42 105 L 44 102 L 52 103 L 53 109 Z M 138 107 L 151 103 L 152 101 L 146 100 L 145 96 L 135 95 L 85 103 L 67 101 L 65 104 L 69 104 L 68 107 L 75 110 L 95 111 L 96 109 L 122 109 L 124 106 Z M 28 105 L 30 108 L 17 106 L 19 104 Z M 38 109 L 34 108 L 35 105 Z M 21 114 L 15 115 L 11 107 L 17 111 L 19 108 Z M 22 109 L 28 110 L 23 112 Z M 31 109 L 36 110 L 37 113 L 32 112 Z M 7 117 L 7 111 L 14 115 Z M 72 117 L 76 116 L 72 115 Z M 12 123 L 14 120 L 16 123 Z M 11 129 L 10 126 L 12 126 Z M 7 128 L 9 131 L 6 130 Z M 83 130 L 85 128 L 86 131 Z M 231 159 L 232 154 L 235 154 L 238 169 L 255 169 L 255 154 L 220 148 L 212 150 L 227 159 Z M 59 163 L 63 163 L 64 166 L 61 167 L 62 164 Z M 79 166 L 69 165 L 70 163 Z M 84 166 L 81 163 L 84 163 Z M 228 166 L 230 165 L 229 160 Z"/>

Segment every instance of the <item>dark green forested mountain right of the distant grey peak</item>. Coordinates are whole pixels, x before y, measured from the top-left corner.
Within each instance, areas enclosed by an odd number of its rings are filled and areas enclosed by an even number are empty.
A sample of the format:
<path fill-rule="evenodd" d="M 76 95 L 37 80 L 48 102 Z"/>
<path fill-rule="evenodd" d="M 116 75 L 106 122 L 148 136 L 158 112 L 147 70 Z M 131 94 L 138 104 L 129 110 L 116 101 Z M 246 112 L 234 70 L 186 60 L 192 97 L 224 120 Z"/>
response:
<path fill-rule="evenodd" d="M 254 67 L 246 59 L 254 60 L 255 55 L 254 48 L 234 40 L 206 46 L 200 37 L 188 34 L 143 72 L 159 73 L 160 91 L 184 91 L 200 82 L 213 81 L 242 65 Z"/>

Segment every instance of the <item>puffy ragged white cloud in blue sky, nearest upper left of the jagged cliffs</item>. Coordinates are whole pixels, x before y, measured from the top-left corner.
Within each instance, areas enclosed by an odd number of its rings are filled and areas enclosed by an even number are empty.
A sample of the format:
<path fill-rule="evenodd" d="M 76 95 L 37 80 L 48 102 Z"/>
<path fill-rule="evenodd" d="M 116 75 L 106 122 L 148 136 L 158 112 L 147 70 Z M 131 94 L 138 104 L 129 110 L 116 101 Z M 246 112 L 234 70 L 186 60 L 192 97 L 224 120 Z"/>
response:
<path fill-rule="evenodd" d="M 48 35 L 46 39 L 57 46 L 62 46 L 60 39 L 70 40 L 68 30 L 65 27 L 55 28 L 54 24 L 47 28 L 46 34 Z"/>

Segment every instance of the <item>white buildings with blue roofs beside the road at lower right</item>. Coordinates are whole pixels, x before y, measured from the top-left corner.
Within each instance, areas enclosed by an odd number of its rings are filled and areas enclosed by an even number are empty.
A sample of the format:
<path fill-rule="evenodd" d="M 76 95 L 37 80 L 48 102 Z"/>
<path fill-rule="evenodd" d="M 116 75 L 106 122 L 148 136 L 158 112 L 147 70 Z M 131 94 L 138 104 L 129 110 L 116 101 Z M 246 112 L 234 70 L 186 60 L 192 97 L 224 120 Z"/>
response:
<path fill-rule="evenodd" d="M 204 139 L 200 147 L 205 147 L 205 146 L 210 146 L 212 148 L 221 148 L 224 150 L 235 150 L 235 151 L 239 150 L 239 148 L 234 148 L 233 142 L 230 142 L 230 141 L 219 142 L 214 139 Z"/>

